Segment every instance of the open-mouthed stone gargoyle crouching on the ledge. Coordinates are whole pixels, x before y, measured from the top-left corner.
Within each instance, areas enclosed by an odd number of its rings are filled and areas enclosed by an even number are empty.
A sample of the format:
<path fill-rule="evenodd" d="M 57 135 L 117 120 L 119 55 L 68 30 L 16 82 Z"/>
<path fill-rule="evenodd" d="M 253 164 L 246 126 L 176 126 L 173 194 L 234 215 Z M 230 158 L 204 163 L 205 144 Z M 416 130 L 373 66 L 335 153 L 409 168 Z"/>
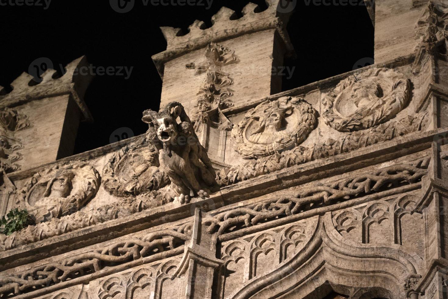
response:
<path fill-rule="evenodd" d="M 219 190 L 207 152 L 180 103 L 171 102 L 159 113 L 145 110 L 142 121 L 149 125 L 146 139 L 159 150 L 160 168 L 171 180 L 175 201 L 189 202 L 191 196 L 204 198 Z"/>

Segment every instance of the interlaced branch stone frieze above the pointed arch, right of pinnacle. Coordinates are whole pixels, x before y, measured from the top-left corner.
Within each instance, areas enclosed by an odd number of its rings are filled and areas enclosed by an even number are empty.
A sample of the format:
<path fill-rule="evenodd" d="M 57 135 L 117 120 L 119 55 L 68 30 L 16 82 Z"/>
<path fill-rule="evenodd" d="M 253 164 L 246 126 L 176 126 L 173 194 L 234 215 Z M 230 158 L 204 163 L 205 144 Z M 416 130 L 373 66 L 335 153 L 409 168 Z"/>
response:
<path fill-rule="evenodd" d="M 430 158 L 413 161 L 409 164 L 392 165 L 362 173 L 335 182 L 321 183 L 300 190 L 296 197 L 273 198 L 271 200 L 249 204 L 245 207 L 233 208 L 229 211 L 208 214 L 203 223 L 208 225 L 208 232 L 220 236 L 233 233 L 241 227 L 250 227 L 268 219 L 278 219 L 328 204 L 371 195 L 376 192 L 394 189 L 405 184 L 414 184 L 421 181 L 427 173 Z M 377 215 L 375 213 L 370 213 Z M 369 215 L 370 215 L 369 214 Z M 346 225 L 346 222 L 340 222 Z M 232 230 L 228 230 L 233 228 Z M 346 228 L 348 229 L 348 228 Z"/>

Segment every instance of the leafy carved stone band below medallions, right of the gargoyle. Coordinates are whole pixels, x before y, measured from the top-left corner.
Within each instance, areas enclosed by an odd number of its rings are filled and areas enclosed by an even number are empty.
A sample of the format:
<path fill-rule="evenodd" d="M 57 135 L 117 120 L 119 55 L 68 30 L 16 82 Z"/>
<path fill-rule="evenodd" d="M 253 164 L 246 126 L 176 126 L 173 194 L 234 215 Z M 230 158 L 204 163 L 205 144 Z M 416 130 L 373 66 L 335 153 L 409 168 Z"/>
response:
<path fill-rule="evenodd" d="M 392 140 L 425 128 L 427 113 L 391 120 L 369 130 L 355 131 L 340 139 L 327 139 L 313 147 L 295 147 L 293 150 L 275 153 L 269 157 L 250 160 L 244 165 L 223 168 L 217 172 L 220 186 L 228 186 L 266 173 L 350 152 L 382 141 Z"/>

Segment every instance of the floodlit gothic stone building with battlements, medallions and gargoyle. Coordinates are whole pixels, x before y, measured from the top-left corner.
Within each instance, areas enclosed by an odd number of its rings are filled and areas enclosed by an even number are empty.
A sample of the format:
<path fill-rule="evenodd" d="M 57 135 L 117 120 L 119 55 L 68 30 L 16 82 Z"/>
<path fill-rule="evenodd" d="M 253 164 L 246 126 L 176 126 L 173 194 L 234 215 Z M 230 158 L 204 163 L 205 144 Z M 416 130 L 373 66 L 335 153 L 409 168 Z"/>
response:
<path fill-rule="evenodd" d="M 35 223 L 0 235 L 0 298 L 448 298 L 447 1 L 374 1 L 375 65 L 283 92 L 267 3 L 163 27 L 160 110 L 119 143 L 71 156 L 85 57 L 2 91 L 0 216 Z"/>

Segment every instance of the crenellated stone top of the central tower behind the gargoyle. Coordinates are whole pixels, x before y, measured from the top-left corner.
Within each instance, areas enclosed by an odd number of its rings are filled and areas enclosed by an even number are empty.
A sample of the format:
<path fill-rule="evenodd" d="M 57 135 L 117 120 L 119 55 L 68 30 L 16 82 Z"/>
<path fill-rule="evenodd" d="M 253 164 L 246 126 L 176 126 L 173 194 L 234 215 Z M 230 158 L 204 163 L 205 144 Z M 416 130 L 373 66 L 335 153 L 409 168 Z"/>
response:
<path fill-rule="evenodd" d="M 267 0 L 266 4 L 267 9 L 259 13 L 256 12 L 259 9 L 257 4 L 247 4 L 241 11 L 243 16 L 237 20 L 231 19 L 235 11 L 222 7 L 211 17 L 213 26 L 201 29 L 204 22 L 196 20 L 188 27 L 189 32 L 181 36 L 178 36 L 181 32 L 180 28 L 160 27 L 167 41 L 167 49 L 152 56 L 160 77 L 163 78 L 164 64 L 167 61 L 203 48 L 211 42 L 220 42 L 263 30 L 276 29 L 284 42 L 285 54 L 295 56 L 293 45 L 286 31 L 286 25 L 293 12 L 292 9 L 291 11 L 289 8 L 283 9 L 280 6 L 281 0 Z"/>

